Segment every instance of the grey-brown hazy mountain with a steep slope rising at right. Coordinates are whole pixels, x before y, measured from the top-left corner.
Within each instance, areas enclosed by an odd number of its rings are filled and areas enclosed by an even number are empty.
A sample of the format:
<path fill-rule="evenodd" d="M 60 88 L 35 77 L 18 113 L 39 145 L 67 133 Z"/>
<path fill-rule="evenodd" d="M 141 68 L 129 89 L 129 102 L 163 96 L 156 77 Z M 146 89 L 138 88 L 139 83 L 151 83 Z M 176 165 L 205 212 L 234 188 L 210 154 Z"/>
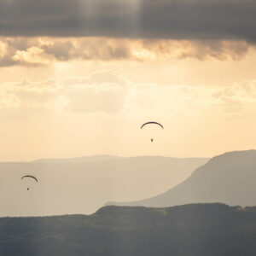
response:
<path fill-rule="evenodd" d="M 191 177 L 167 192 L 121 205 L 172 207 L 197 202 L 256 205 L 256 151 L 230 152 L 213 157 Z M 115 204 L 115 203 L 110 203 Z"/>

